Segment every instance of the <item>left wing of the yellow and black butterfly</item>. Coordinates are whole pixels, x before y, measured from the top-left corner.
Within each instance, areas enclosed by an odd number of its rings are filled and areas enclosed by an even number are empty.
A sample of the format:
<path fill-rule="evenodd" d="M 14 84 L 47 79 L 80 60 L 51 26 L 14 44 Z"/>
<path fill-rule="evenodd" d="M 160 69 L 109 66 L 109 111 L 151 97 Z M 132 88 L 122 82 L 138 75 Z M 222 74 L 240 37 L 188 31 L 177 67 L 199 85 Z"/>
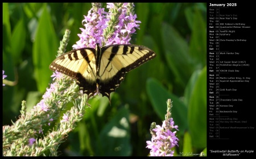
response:
<path fill-rule="evenodd" d="M 96 50 L 81 48 L 57 57 L 49 69 L 77 79 L 84 93 L 92 96 L 96 93 Z"/>

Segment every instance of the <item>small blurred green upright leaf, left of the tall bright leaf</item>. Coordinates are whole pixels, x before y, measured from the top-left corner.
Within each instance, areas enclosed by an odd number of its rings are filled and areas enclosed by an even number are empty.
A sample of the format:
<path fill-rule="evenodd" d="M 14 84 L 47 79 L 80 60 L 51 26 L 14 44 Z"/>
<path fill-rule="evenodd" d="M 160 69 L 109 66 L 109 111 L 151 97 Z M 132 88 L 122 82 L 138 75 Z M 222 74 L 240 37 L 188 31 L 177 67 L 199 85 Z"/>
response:
<path fill-rule="evenodd" d="M 23 21 L 23 18 L 19 20 L 11 37 L 11 54 L 13 55 L 15 64 L 18 64 L 18 61 L 22 59 L 20 56 L 25 47 L 26 28 L 24 27 Z"/>

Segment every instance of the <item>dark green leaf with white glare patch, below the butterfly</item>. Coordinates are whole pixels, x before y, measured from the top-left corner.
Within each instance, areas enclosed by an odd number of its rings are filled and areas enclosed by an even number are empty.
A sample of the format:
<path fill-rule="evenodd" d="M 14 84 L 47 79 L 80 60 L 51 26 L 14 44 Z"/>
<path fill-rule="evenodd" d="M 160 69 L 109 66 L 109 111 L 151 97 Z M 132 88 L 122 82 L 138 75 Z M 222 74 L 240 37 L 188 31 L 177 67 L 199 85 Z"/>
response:
<path fill-rule="evenodd" d="M 100 132 L 101 153 L 104 156 L 130 156 L 129 111 L 121 108 Z"/>

